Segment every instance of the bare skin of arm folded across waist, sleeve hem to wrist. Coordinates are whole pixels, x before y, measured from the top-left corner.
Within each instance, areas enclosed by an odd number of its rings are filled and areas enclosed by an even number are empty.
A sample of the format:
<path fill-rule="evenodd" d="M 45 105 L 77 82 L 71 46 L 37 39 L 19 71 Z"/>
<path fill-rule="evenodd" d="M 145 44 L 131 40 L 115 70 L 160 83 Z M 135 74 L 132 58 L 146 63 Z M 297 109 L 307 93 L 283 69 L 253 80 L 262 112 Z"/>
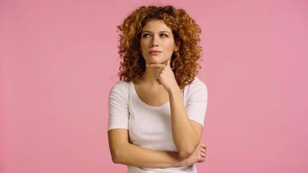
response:
<path fill-rule="evenodd" d="M 113 163 L 144 168 L 165 168 L 184 165 L 178 152 L 156 151 L 128 143 L 127 129 L 108 131 Z"/>

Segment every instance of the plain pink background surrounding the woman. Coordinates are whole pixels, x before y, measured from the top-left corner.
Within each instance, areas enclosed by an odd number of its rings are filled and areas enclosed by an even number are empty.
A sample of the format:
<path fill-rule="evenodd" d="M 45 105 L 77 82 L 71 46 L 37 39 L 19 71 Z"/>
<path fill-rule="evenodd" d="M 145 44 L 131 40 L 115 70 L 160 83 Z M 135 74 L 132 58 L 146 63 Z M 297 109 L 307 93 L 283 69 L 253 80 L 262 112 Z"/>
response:
<path fill-rule="evenodd" d="M 112 163 L 106 132 L 115 31 L 133 9 L 159 3 L 202 27 L 198 172 L 308 172 L 307 1 L 3 0 L 1 173 L 126 171 Z"/>

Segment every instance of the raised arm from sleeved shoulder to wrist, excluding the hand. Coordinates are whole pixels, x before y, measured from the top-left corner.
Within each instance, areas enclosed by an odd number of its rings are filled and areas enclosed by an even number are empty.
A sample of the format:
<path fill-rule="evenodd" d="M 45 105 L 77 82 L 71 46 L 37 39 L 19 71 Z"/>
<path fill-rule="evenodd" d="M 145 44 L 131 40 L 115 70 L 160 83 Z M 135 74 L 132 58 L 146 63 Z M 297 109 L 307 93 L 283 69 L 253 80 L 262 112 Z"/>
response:
<path fill-rule="evenodd" d="M 172 138 L 181 157 L 188 157 L 200 143 L 205 110 L 207 89 L 198 85 L 187 98 L 186 107 L 180 88 L 169 91 Z M 201 124 L 200 124 L 201 123 Z"/>

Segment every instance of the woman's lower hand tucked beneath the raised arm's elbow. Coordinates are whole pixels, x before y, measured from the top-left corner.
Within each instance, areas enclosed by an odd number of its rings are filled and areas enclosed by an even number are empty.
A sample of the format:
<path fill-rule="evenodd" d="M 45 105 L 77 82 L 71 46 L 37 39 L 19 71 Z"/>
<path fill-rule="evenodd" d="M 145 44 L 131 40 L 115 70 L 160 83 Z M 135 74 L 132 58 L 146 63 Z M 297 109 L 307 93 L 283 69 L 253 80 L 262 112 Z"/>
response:
<path fill-rule="evenodd" d="M 197 162 L 202 163 L 205 161 L 206 144 L 200 143 L 195 151 L 188 157 L 182 159 L 183 166 L 190 166 Z"/>

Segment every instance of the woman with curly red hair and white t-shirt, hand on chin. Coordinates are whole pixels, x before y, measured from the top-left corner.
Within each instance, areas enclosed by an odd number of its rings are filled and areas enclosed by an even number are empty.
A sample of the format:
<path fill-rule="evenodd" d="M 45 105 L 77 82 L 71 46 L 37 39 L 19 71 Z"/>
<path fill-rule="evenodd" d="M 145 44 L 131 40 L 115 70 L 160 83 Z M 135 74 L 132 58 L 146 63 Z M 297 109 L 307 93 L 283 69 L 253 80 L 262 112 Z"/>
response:
<path fill-rule="evenodd" d="M 197 172 L 207 106 L 196 78 L 201 29 L 182 9 L 140 7 L 118 26 L 120 81 L 109 93 L 112 161 L 127 172 Z"/>

